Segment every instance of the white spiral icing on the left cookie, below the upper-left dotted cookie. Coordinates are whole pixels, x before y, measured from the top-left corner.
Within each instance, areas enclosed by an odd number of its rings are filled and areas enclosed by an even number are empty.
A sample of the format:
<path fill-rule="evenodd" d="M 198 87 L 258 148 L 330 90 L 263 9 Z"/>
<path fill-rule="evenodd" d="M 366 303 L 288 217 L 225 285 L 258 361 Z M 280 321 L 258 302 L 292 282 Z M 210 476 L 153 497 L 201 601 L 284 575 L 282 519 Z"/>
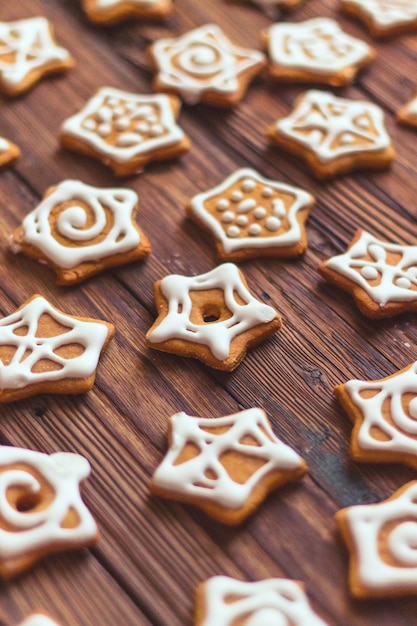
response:
<path fill-rule="evenodd" d="M 52 211 L 63 203 L 71 206 L 61 210 L 53 227 Z M 87 214 L 82 202 L 94 215 L 86 228 Z M 136 248 L 139 233 L 132 224 L 132 214 L 138 197 L 130 189 L 99 189 L 77 180 L 61 182 L 22 223 L 22 239 L 41 250 L 47 259 L 63 268 L 73 268 L 86 261 L 97 261 Z M 104 207 L 110 212 L 113 225 L 103 237 L 106 227 Z M 55 233 L 65 238 L 62 243 Z M 67 243 L 68 242 L 68 243 Z M 79 246 L 74 244 L 79 243 Z"/>

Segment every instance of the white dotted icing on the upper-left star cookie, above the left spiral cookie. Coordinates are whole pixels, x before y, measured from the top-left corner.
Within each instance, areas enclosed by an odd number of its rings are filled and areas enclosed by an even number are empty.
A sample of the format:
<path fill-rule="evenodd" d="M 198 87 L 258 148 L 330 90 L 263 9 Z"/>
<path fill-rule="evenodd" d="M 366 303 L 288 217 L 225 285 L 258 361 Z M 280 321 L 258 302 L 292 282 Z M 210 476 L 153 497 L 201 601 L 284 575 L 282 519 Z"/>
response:
<path fill-rule="evenodd" d="M 112 105 L 114 102 L 117 102 L 117 105 Z M 91 124 L 91 120 L 96 120 L 97 112 L 103 106 L 114 111 L 115 108 L 120 108 L 120 103 L 123 103 L 123 124 L 120 127 L 120 119 L 117 116 L 112 119 L 110 130 L 121 133 L 117 137 L 116 144 L 112 145 L 100 136 L 100 133 L 96 131 L 96 125 Z M 120 111 L 118 113 L 120 114 Z M 157 114 L 155 115 L 155 113 Z M 149 136 L 143 136 L 134 132 L 134 121 L 139 117 L 147 118 L 150 130 L 156 124 L 157 133 L 149 132 Z M 127 121 L 129 121 L 128 125 L 126 125 Z M 148 154 L 166 146 L 176 145 L 184 139 L 182 129 L 175 122 L 172 104 L 168 96 L 165 94 L 142 96 L 111 87 L 100 89 L 79 113 L 65 120 L 61 132 L 65 136 L 85 142 L 101 154 L 108 155 L 119 163 L 125 163 L 137 156 Z"/>

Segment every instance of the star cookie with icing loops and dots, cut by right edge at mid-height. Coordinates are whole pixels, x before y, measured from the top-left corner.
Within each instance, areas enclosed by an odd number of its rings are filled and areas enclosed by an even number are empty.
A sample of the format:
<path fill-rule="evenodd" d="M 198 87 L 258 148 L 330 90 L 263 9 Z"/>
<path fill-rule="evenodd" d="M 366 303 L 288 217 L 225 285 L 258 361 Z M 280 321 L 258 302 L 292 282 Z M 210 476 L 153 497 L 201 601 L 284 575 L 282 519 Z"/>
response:
<path fill-rule="evenodd" d="M 358 230 L 347 251 L 323 261 L 318 270 L 351 293 L 367 317 L 417 311 L 417 246 L 381 241 Z"/>

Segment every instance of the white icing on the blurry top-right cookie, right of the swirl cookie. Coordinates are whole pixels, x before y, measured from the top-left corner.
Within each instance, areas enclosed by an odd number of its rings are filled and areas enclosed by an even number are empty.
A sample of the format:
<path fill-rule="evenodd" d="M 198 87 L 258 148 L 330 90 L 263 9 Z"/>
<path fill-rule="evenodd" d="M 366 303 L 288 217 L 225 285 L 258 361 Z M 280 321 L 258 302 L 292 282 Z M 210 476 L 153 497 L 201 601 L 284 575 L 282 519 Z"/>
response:
<path fill-rule="evenodd" d="M 273 64 L 285 68 L 327 75 L 358 65 L 370 54 L 367 43 L 344 33 L 326 17 L 273 24 L 267 33 Z"/>

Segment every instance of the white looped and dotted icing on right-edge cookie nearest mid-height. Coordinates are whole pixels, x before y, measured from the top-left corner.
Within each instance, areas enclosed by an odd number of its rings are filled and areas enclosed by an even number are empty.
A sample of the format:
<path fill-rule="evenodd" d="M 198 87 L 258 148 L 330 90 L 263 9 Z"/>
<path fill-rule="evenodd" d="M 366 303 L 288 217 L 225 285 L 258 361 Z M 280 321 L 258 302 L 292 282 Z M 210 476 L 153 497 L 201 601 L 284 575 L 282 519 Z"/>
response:
<path fill-rule="evenodd" d="M 395 256 L 393 264 L 387 262 L 389 253 Z M 417 301 L 417 246 L 387 243 L 364 231 L 344 254 L 326 261 L 326 267 L 358 284 L 380 307 Z M 368 280 L 376 274 L 379 281 L 371 285 Z"/>

